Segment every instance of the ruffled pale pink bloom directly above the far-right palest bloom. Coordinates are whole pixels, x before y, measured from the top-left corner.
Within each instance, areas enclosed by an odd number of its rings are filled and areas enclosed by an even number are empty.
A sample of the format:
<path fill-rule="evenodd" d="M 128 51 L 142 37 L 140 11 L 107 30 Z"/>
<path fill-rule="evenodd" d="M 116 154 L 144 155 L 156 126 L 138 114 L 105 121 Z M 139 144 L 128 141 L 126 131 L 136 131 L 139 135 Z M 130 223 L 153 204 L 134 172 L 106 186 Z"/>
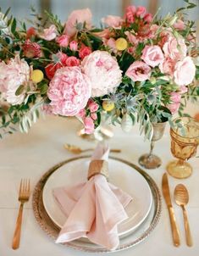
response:
<path fill-rule="evenodd" d="M 180 60 L 185 58 L 187 47 L 183 38 L 176 39 L 174 36 L 169 36 L 168 40 L 163 45 L 163 52 L 166 57 Z"/>

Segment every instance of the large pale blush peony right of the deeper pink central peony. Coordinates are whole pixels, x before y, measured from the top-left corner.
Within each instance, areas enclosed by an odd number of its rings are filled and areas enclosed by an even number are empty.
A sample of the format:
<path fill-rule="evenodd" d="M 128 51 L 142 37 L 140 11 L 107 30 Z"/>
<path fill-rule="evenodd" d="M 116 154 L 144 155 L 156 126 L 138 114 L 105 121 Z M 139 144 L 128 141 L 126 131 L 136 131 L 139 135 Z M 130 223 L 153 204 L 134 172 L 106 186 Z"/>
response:
<path fill-rule="evenodd" d="M 100 97 L 119 86 L 122 71 L 115 58 L 105 51 L 95 51 L 82 61 L 82 70 L 91 80 L 92 97 Z"/>

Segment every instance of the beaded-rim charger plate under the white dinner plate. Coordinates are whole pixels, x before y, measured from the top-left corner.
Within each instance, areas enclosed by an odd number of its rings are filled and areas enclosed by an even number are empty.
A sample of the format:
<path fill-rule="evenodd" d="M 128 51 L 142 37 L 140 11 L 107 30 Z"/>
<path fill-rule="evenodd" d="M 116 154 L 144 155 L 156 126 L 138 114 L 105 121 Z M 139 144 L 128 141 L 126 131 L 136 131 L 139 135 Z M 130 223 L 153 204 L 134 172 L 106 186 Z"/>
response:
<path fill-rule="evenodd" d="M 45 233 L 55 241 L 58 237 L 58 233 L 60 228 L 56 225 L 53 220 L 47 214 L 47 211 L 43 205 L 43 188 L 50 177 L 56 170 L 58 170 L 64 164 L 68 164 L 71 161 L 75 161 L 77 159 L 87 159 L 88 156 L 82 156 L 73 159 L 67 159 L 59 164 L 53 166 L 50 170 L 48 170 L 44 175 L 42 175 L 40 181 L 37 182 L 36 187 L 33 192 L 33 211 L 36 217 L 37 223 L 41 226 L 41 229 L 45 231 Z M 162 204 L 161 204 L 161 196 L 156 185 L 155 181 L 146 174 L 144 170 L 141 170 L 140 167 L 136 166 L 135 164 L 131 164 L 128 161 L 118 158 L 111 158 L 118 161 L 121 161 L 124 164 L 130 165 L 132 170 L 138 171 L 145 179 L 148 185 L 150 186 L 152 192 L 152 208 L 150 213 L 147 215 L 146 220 L 129 236 L 121 237 L 119 239 L 119 247 L 113 251 L 109 251 L 107 248 L 102 248 L 97 244 L 91 243 L 86 239 L 78 239 L 72 242 L 64 243 L 63 245 L 70 248 L 75 248 L 81 251 L 91 252 L 91 253 L 111 253 L 115 251 L 124 250 L 126 248 L 130 248 L 135 246 L 136 244 L 142 242 L 143 240 L 148 237 L 151 232 L 154 230 L 156 225 L 158 224 L 158 220 L 160 219 Z"/>

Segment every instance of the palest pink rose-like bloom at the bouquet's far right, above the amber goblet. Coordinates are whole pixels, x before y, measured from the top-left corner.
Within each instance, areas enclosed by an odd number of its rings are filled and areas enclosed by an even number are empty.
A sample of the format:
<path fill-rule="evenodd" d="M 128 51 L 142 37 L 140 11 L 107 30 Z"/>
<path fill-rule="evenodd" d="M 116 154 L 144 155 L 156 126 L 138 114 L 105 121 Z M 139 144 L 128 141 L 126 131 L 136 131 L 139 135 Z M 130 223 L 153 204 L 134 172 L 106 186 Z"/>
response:
<path fill-rule="evenodd" d="M 196 74 L 196 66 L 192 58 L 187 56 L 175 64 L 174 82 L 179 86 L 191 84 Z"/>

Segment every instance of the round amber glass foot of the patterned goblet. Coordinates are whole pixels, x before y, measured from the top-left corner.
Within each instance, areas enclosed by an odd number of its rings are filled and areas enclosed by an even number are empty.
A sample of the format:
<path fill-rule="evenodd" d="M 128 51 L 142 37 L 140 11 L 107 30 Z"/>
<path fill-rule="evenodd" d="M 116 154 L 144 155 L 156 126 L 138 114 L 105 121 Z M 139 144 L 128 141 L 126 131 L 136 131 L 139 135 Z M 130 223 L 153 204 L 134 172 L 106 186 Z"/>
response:
<path fill-rule="evenodd" d="M 180 164 L 179 160 L 174 160 L 167 165 L 167 171 L 174 178 L 185 179 L 191 175 L 192 167 L 186 162 Z"/>

